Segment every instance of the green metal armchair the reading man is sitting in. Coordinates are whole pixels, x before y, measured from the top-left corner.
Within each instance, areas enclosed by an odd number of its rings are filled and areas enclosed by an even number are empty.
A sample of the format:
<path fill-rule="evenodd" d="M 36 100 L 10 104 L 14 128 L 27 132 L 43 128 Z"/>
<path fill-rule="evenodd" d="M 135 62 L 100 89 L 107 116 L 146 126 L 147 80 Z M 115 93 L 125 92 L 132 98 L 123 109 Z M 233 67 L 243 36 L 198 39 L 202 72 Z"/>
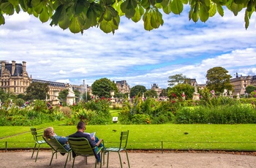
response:
<path fill-rule="evenodd" d="M 91 148 L 91 145 L 89 141 L 84 137 L 69 137 L 68 139 L 69 146 L 72 149 L 72 152 L 75 153 L 75 156 L 73 156 L 73 164 L 72 167 L 74 167 L 75 164 L 75 158 L 77 156 L 85 156 L 86 157 L 86 164 L 87 164 L 87 157 L 94 156 L 94 148 Z M 103 147 L 99 147 L 97 149 L 97 154 L 103 150 Z M 95 168 L 97 167 L 97 159 L 95 159 Z M 102 167 L 102 162 L 100 163 L 100 167 Z"/>

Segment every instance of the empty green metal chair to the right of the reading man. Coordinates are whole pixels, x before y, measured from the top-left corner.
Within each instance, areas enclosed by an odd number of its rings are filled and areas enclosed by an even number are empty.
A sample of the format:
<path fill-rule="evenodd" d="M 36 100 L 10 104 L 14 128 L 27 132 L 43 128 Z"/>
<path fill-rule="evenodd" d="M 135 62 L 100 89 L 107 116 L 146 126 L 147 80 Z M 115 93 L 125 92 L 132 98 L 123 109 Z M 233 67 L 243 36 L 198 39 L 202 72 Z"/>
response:
<path fill-rule="evenodd" d="M 129 130 L 127 131 L 121 131 L 121 137 L 120 137 L 120 145 L 119 147 L 110 147 L 110 148 L 105 148 L 103 150 L 104 153 L 108 153 L 108 159 L 109 159 L 109 153 L 110 152 L 117 152 L 120 160 L 121 167 L 123 167 L 122 162 L 121 162 L 121 155 L 120 152 L 122 150 L 125 150 L 127 153 L 127 141 L 128 141 L 128 135 L 129 135 Z M 128 158 L 128 153 L 127 153 L 127 162 L 129 166 L 129 158 Z M 107 168 L 108 168 L 108 161 L 107 161 Z"/>

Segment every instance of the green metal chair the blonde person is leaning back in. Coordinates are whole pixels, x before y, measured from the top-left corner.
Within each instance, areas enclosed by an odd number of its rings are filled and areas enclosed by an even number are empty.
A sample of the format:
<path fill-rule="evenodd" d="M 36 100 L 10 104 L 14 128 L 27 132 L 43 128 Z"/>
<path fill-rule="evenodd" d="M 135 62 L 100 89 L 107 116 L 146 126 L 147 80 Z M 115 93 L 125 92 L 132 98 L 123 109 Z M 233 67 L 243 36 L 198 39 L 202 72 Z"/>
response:
<path fill-rule="evenodd" d="M 53 161 L 53 156 L 54 156 L 55 153 L 56 153 L 56 159 L 57 159 L 57 153 L 58 152 L 59 153 L 67 153 L 67 159 L 69 158 L 69 161 L 71 161 L 71 152 L 72 152 L 72 150 L 71 149 L 67 150 L 65 148 L 65 145 L 67 145 L 67 144 L 61 145 L 61 143 L 58 140 L 56 140 L 55 137 L 50 137 L 50 138 L 43 137 L 43 139 L 45 140 L 45 142 L 47 142 L 47 144 L 53 150 L 53 155 L 51 156 L 50 164 Z M 66 167 L 66 165 L 67 165 L 67 159 L 66 159 L 64 167 Z"/>

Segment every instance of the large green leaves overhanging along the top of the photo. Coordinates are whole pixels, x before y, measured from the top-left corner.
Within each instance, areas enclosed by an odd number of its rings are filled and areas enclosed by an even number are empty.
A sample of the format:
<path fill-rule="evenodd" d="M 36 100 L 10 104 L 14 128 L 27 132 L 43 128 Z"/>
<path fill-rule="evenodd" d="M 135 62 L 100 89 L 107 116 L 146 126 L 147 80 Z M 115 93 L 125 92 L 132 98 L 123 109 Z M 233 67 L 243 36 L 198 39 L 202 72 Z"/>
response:
<path fill-rule="evenodd" d="M 99 27 L 105 33 L 114 33 L 118 29 L 120 17 L 125 16 L 135 23 L 143 19 L 144 28 L 151 31 L 164 23 L 162 13 L 171 12 L 180 15 L 188 1 L 138 1 L 138 0 L 91 0 L 91 1 L 56 1 L 56 0 L 4 0 L 0 1 L 0 25 L 5 23 L 4 15 L 14 12 L 28 12 L 38 17 L 42 23 L 51 20 L 50 26 L 69 28 L 72 33 L 83 33 L 90 27 Z M 255 1 L 189 1 L 189 20 L 206 22 L 217 12 L 224 15 L 229 9 L 234 15 L 244 11 L 245 28 L 249 26 L 249 19 L 255 12 Z M 244 9 L 244 10 L 242 10 Z"/>

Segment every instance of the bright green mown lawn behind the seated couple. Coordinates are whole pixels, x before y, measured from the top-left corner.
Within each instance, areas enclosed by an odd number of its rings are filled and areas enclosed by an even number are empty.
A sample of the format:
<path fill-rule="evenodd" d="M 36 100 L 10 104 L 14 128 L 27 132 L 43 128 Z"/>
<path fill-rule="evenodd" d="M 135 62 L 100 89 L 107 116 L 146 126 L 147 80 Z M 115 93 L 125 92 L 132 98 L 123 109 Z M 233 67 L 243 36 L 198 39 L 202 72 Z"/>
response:
<path fill-rule="evenodd" d="M 45 129 L 53 126 L 56 134 L 68 136 L 76 126 L 61 126 L 60 122 L 35 126 Z M 34 140 L 29 126 L 1 126 L 0 148 L 33 148 Z M 120 132 L 129 130 L 128 149 L 177 150 L 256 150 L 256 124 L 161 124 L 86 126 L 87 132 L 105 141 L 107 147 L 118 145 Z M 113 131 L 115 130 L 115 131 Z M 48 145 L 42 145 L 48 148 Z"/>

